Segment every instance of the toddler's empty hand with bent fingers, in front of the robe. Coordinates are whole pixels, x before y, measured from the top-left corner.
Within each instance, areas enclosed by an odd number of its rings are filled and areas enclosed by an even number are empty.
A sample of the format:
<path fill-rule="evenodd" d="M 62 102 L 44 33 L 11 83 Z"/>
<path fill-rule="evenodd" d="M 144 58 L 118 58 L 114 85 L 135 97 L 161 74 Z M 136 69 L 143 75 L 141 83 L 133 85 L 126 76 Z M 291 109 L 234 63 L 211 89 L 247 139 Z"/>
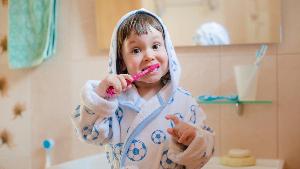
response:
<path fill-rule="evenodd" d="M 174 128 L 168 128 L 167 132 L 171 134 L 173 138 L 178 141 L 178 143 L 189 146 L 195 138 L 195 129 L 187 122 L 180 121 L 176 115 L 166 115 L 165 118 L 167 120 L 172 119 L 172 121 L 175 123 Z"/>

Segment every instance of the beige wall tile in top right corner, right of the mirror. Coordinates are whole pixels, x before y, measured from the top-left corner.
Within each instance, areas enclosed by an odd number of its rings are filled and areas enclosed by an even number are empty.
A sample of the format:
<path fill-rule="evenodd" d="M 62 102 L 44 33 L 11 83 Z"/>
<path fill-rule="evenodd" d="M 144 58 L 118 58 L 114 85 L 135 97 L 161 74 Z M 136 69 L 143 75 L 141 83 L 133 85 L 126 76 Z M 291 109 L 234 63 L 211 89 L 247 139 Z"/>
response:
<path fill-rule="evenodd" d="M 300 53 L 300 1 L 281 1 L 282 43 L 278 43 L 278 54 Z"/>

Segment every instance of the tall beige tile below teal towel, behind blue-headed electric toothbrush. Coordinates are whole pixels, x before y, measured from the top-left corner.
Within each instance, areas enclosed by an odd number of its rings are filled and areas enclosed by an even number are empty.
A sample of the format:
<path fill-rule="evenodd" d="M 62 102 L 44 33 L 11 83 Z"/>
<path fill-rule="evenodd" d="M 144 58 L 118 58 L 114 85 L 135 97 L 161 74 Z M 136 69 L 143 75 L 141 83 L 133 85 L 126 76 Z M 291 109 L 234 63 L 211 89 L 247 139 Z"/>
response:
<path fill-rule="evenodd" d="M 68 62 L 44 63 L 32 68 L 32 158 L 45 157 L 43 141 L 52 138 L 55 159 L 69 159 L 71 150 L 71 72 Z M 42 166 L 41 166 L 42 167 Z"/>

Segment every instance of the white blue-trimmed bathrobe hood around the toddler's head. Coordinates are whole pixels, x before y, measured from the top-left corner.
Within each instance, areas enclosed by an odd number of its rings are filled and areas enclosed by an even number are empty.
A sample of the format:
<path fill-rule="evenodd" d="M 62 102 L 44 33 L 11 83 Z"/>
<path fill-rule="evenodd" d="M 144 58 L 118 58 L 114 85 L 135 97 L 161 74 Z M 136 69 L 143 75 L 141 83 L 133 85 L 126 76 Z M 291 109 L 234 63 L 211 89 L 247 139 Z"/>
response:
<path fill-rule="evenodd" d="M 164 35 L 165 35 L 165 46 L 166 46 L 166 50 L 167 50 L 167 54 L 168 54 L 168 62 L 169 62 L 169 70 L 170 70 L 170 75 L 171 75 L 171 84 L 172 84 L 172 91 L 168 92 L 170 95 L 168 97 L 165 97 L 165 101 L 170 100 L 170 98 L 173 96 L 174 92 L 176 91 L 178 85 L 179 85 L 179 80 L 180 80 L 180 75 L 181 75 L 181 68 L 178 62 L 178 59 L 176 57 L 176 53 L 173 47 L 173 44 L 171 42 L 170 39 L 170 35 L 169 32 L 167 30 L 167 27 L 165 26 L 165 24 L 163 23 L 163 21 L 161 20 L 161 18 L 159 18 L 158 16 L 156 16 L 155 14 L 153 14 L 150 11 L 147 11 L 146 9 L 142 8 L 139 10 L 135 10 L 135 11 L 131 11 L 127 14 L 125 14 L 117 23 L 114 31 L 113 31 L 113 35 L 111 38 L 111 45 L 110 45 L 110 60 L 109 60 L 109 67 L 108 67 L 108 73 L 116 73 L 117 69 L 116 69 L 116 58 L 117 58 L 117 32 L 118 29 L 120 27 L 120 25 L 122 24 L 122 22 L 128 18 L 129 16 L 136 14 L 138 12 L 144 12 L 147 13 L 149 15 L 152 15 L 153 17 L 155 17 L 159 23 L 161 23 L 161 26 L 163 28 L 164 31 Z"/>

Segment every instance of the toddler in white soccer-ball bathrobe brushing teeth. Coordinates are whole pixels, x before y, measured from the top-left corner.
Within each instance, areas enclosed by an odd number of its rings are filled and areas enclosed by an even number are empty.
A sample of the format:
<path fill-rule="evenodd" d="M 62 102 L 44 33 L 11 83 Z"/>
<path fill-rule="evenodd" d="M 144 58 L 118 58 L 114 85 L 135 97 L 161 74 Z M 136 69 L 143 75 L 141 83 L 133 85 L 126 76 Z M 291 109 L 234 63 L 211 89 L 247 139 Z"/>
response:
<path fill-rule="evenodd" d="M 126 14 L 113 32 L 109 75 L 86 82 L 71 115 L 79 140 L 105 146 L 110 168 L 201 168 L 214 154 L 215 131 L 195 98 L 178 86 L 180 75 L 161 19 L 145 9 Z"/>

